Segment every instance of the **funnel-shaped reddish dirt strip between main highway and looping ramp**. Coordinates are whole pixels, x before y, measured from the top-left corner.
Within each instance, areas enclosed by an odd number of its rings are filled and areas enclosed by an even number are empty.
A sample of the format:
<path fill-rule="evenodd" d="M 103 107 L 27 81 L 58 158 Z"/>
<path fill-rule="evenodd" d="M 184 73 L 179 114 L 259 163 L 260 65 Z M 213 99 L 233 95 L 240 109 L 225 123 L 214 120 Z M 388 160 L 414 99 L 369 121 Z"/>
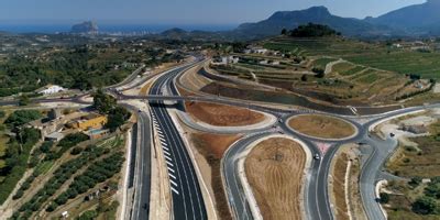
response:
<path fill-rule="evenodd" d="M 216 208 L 219 219 L 229 220 L 232 216 L 229 211 L 227 196 L 224 195 L 223 182 L 221 179 L 221 158 L 228 147 L 239 140 L 241 135 L 218 135 L 211 133 L 191 133 L 191 141 L 200 153 L 206 163 L 208 163 L 210 170 L 202 170 L 204 178 L 207 185 L 211 186 L 211 191 L 215 196 Z M 200 163 L 200 162 L 199 162 Z"/>

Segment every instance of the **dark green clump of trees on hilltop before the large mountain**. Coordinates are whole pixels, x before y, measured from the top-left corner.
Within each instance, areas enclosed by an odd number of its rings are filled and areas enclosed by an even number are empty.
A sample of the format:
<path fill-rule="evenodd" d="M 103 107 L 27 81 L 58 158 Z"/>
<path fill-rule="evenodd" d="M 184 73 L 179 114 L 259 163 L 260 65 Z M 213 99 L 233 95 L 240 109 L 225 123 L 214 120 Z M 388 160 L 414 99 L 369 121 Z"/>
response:
<path fill-rule="evenodd" d="M 322 37 L 322 36 L 334 36 L 341 35 L 341 33 L 336 32 L 328 25 L 308 23 L 306 25 L 299 25 L 293 31 L 282 32 L 284 35 L 289 35 L 294 37 Z"/>

